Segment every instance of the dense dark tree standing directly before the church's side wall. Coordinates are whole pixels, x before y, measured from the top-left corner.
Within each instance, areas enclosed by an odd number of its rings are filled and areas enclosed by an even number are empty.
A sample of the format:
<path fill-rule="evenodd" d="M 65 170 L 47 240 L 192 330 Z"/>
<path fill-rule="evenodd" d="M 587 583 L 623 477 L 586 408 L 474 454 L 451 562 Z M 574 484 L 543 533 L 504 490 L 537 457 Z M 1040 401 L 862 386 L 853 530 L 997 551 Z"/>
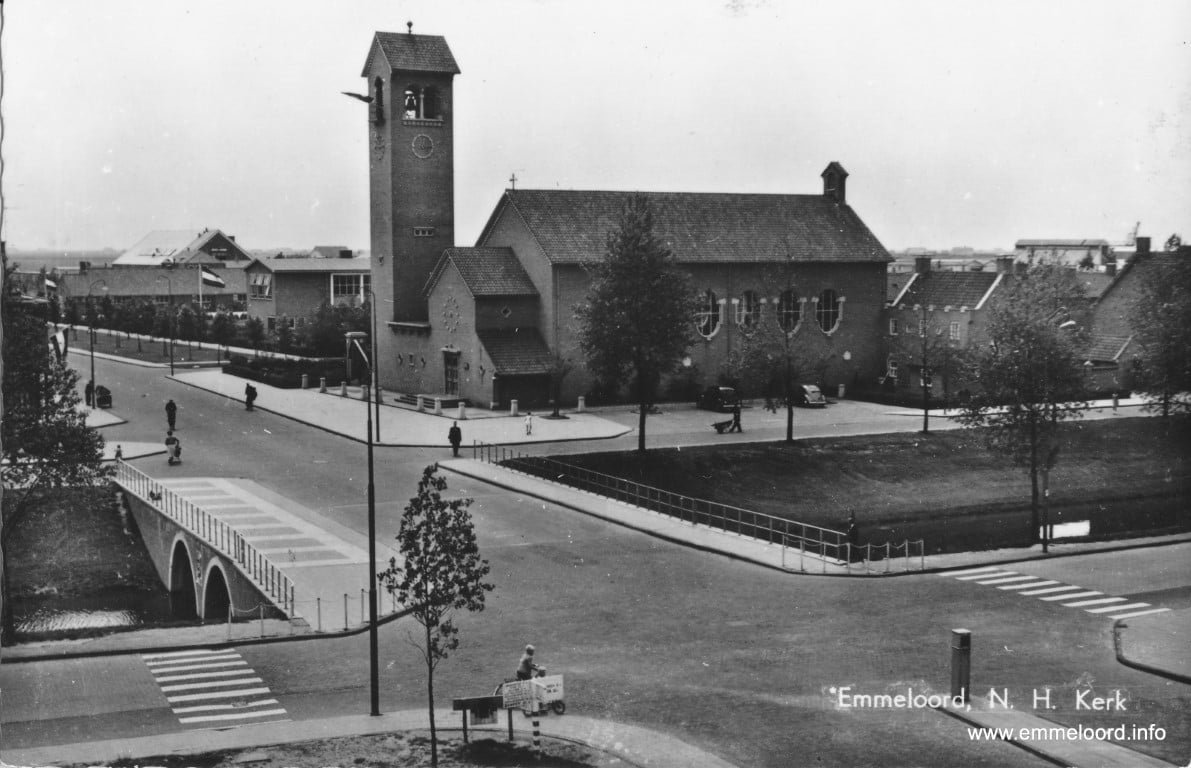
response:
<path fill-rule="evenodd" d="M 696 296 L 690 277 L 654 232 L 648 199 L 634 195 L 607 235 L 603 261 L 586 264 L 587 298 L 575 312 L 579 346 L 597 381 L 631 379 L 637 450 L 646 450 L 646 414 L 662 376 L 673 373 L 693 339 Z"/>

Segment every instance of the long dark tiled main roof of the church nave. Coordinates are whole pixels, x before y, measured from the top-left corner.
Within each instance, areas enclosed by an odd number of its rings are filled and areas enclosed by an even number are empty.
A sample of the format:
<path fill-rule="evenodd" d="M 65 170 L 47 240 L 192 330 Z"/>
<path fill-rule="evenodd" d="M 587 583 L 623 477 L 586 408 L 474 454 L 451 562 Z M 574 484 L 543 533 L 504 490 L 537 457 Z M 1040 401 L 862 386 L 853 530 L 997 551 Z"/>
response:
<path fill-rule="evenodd" d="M 847 205 L 824 195 L 510 189 L 480 235 L 511 207 L 555 264 L 603 258 L 624 205 L 642 194 L 656 233 L 680 262 L 893 261 Z"/>

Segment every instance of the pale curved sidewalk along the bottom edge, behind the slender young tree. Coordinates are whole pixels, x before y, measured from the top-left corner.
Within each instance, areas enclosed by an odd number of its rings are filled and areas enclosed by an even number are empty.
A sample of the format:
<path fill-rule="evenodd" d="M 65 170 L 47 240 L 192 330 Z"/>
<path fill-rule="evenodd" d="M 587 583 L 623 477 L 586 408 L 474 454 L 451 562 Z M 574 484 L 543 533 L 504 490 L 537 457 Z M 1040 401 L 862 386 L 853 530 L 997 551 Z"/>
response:
<path fill-rule="evenodd" d="M 499 716 L 497 720 L 497 725 L 469 725 L 468 733 L 484 733 L 487 738 L 503 741 L 509 735 L 505 716 Z M 461 713 L 459 712 L 436 708 L 435 722 L 441 735 L 454 736 L 455 731 L 462 731 Z M 524 744 L 530 738 L 529 723 L 530 720 L 520 714 L 513 714 L 513 732 L 519 743 Z M 368 736 L 397 731 L 429 732 L 429 730 L 430 720 L 425 710 L 405 710 L 380 717 L 353 714 L 323 720 L 263 723 L 226 730 L 181 731 L 163 736 L 11 750 L 5 753 L 4 758 L 17 766 L 110 764 L 120 758 L 137 761 L 163 755 L 195 755 L 212 750 L 250 749 L 319 738 Z M 734 768 L 732 763 L 686 742 L 625 723 L 597 720 L 574 714 L 549 716 L 542 718 L 541 732 L 545 751 L 550 749 L 551 738 L 563 738 L 615 755 L 629 766 Z"/>

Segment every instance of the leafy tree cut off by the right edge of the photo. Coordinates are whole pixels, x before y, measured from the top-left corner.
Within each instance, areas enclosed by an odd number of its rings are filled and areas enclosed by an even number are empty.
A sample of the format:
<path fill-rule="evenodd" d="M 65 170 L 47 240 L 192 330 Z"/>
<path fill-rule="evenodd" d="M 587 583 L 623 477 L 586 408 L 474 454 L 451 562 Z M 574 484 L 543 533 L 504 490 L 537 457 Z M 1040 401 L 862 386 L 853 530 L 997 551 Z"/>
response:
<path fill-rule="evenodd" d="M 1191 412 L 1191 260 L 1142 256 L 1141 294 L 1129 307 L 1137 355 L 1133 387 L 1162 416 Z"/>

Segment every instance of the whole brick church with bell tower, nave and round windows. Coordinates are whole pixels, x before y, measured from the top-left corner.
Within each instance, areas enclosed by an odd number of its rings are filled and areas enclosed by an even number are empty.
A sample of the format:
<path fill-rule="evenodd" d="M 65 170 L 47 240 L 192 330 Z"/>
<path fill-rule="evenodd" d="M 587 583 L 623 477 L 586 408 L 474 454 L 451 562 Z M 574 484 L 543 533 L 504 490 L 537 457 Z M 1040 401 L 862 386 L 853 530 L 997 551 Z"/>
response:
<path fill-rule="evenodd" d="M 369 96 L 372 289 L 381 386 L 480 407 L 540 407 L 556 361 L 561 401 L 594 382 L 578 346 L 585 263 L 605 255 L 629 192 L 507 189 L 474 246 L 454 242 L 453 80 L 442 37 L 378 32 Z M 847 204 L 831 162 L 822 193 L 642 193 L 656 235 L 690 270 L 699 310 L 688 370 L 716 383 L 757 323 L 823 350 L 813 383 L 884 373 L 890 254 Z M 775 275 L 781 275 L 775 280 Z"/>

